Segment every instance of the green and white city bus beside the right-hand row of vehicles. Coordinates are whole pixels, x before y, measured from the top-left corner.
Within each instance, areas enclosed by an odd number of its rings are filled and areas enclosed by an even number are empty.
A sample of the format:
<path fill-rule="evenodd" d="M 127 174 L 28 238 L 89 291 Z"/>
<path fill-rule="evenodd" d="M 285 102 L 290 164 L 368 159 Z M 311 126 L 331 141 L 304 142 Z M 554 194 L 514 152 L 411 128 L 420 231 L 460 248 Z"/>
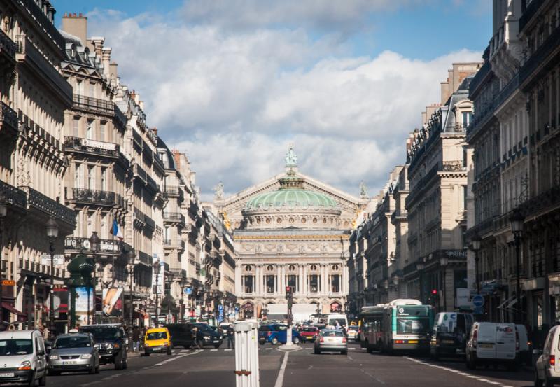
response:
<path fill-rule="evenodd" d="M 429 351 L 434 311 L 419 300 L 398 299 L 363 307 L 360 318 L 367 352 Z"/>

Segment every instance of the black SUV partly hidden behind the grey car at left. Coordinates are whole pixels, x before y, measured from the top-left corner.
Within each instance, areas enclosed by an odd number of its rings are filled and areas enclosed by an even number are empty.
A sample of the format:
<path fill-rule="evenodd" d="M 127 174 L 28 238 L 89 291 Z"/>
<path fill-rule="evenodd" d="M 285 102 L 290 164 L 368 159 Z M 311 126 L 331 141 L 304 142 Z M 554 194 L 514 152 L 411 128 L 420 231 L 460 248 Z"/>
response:
<path fill-rule="evenodd" d="M 80 332 L 93 335 L 99 349 L 99 363 L 115 365 L 115 370 L 127 368 L 127 335 L 120 324 L 82 325 Z"/>

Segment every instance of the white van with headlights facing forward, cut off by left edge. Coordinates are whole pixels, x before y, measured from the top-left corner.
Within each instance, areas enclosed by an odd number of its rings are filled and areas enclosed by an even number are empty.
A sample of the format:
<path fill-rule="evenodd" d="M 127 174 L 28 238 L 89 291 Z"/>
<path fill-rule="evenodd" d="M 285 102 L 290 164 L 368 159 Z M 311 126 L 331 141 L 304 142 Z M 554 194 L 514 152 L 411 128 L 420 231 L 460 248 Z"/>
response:
<path fill-rule="evenodd" d="M 45 342 L 38 330 L 0 332 L 0 384 L 26 383 L 34 386 L 47 383 Z"/>

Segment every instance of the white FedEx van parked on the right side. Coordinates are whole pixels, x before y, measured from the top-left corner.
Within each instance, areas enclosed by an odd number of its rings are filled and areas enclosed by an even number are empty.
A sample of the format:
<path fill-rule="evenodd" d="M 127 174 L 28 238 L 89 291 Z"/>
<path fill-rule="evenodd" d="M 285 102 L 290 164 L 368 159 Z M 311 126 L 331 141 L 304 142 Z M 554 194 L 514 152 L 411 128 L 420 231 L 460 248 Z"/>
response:
<path fill-rule="evenodd" d="M 519 333 L 514 323 L 475 323 L 467 342 L 466 363 L 471 370 L 479 364 L 519 368 Z"/>

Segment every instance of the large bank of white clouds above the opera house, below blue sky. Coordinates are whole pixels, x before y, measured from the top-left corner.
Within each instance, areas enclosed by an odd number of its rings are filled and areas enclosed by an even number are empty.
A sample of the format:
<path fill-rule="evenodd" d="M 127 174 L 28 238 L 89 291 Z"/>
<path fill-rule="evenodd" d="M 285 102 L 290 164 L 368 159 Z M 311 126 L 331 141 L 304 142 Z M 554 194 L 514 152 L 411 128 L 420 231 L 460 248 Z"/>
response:
<path fill-rule="evenodd" d="M 451 63 L 481 57 L 352 57 L 344 41 L 302 28 L 224 31 L 102 13 L 90 21 L 113 48 L 123 83 L 146 101 L 148 125 L 187 150 L 207 195 L 220 180 L 233 193 L 279 173 L 289 142 L 305 174 L 355 195 L 362 179 L 379 190 L 404 162 L 420 112 L 440 100 Z"/>

